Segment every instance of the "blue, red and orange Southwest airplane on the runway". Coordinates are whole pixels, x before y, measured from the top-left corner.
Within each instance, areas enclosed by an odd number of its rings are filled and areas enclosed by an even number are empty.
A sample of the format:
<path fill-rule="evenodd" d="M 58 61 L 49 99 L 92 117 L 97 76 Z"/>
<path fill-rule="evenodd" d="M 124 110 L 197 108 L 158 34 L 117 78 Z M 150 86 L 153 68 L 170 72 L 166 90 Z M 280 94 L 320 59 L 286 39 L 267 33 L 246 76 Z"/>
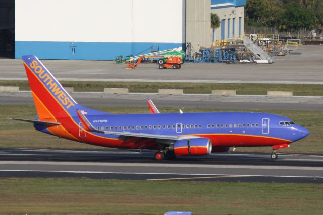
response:
<path fill-rule="evenodd" d="M 103 147 L 155 150 L 156 160 L 252 146 L 272 147 L 271 158 L 277 159 L 276 150 L 309 135 L 293 120 L 269 113 L 111 114 L 94 110 L 78 104 L 36 56 L 22 56 L 22 60 L 37 118 L 11 119 L 31 122 L 37 131 L 60 138 Z"/>

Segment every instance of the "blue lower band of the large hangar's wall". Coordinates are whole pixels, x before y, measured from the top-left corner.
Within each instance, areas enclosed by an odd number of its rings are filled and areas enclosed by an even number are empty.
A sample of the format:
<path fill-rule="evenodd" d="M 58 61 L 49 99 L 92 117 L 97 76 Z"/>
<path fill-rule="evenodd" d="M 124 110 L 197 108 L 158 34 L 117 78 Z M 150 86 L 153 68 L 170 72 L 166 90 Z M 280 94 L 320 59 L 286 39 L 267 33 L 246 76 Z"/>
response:
<path fill-rule="evenodd" d="M 15 42 L 15 58 L 22 55 L 36 55 L 39 59 L 72 60 L 72 47 L 76 47 L 77 60 L 114 60 L 115 56 L 136 55 L 150 46 L 158 45 L 159 50 L 172 49 L 184 43 L 152 42 Z M 147 51 L 148 53 L 149 51 Z"/>

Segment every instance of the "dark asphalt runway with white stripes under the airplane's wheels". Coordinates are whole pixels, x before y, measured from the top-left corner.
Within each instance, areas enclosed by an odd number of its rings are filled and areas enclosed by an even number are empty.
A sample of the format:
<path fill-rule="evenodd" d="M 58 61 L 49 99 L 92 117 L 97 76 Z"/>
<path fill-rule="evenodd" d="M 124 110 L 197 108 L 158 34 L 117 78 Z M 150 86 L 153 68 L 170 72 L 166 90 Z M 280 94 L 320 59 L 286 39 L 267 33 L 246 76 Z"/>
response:
<path fill-rule="evenodd" d="M 323 155 L 219 153 L 155 161 L 154 152 L 1 149 L 1 177 L 322 183 Z"/>

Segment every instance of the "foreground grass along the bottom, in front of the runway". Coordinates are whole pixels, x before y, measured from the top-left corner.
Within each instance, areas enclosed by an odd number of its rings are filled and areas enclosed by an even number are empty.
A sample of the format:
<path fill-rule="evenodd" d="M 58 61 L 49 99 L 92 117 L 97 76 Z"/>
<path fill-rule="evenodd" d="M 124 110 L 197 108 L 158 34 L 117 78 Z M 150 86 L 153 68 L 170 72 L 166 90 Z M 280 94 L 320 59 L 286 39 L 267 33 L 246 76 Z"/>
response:
<path fill-rule="evenodd" d="M 315 215 L 323 184 L 2 178 L 0 213 Z"/>

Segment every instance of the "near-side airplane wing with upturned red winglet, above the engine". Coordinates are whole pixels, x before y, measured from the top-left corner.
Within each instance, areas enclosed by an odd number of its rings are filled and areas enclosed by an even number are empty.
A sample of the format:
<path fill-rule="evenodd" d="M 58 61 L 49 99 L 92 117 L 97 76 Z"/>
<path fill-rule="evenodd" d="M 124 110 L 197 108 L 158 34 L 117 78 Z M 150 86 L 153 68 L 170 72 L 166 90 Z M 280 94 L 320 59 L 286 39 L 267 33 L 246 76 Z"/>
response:
<path fill-rule="evenodd" d="M 151 138 L 151 139 L 159 139 L 159 140 L 185 140 L 192 138 L 199 138 L 196 136 L 175 136 L 175 135 L 156 135 L 156 134 L 148 134 L 148 133 L 137 133 L 137 132 L 114 132 L 114 131 L 100 131 L 97 130 L 91 122 L 84 116 L 84 114 L 80 110 L 76 110 L 77 115 L 79 116 L 81 123 L 86 131 L 90 132 L 98 132 L 109 135 L 120 135 L 125 137 L 140 137 L 140 138 Z"/>

